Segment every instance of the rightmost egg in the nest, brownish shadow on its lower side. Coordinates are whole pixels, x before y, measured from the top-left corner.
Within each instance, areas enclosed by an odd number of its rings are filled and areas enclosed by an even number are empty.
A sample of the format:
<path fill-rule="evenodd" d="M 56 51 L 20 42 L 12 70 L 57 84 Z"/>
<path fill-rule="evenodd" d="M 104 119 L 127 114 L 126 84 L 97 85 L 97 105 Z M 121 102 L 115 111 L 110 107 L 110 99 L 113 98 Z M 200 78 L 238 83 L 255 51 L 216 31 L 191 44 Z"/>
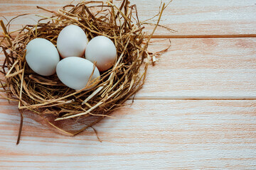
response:
<path fill-rule="evenodd" d="M 85 58 L 91 62 L 96 62 L 97 68 L 102 72 L 114 65 L 117 50 L 110 38 L 97 36 L 88 43 Z"/>

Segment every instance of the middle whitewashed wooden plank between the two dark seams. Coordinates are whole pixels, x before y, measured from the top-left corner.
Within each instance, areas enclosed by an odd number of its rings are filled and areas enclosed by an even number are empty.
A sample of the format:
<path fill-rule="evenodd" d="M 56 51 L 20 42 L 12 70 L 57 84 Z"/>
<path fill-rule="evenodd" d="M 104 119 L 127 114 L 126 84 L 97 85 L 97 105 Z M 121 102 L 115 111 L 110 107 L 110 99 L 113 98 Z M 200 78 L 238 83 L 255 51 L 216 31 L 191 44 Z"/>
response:
<path fill-rule="evenodd" d="M 152 52 L 169 40 L 152 40 Z M 172 39 L 136 98 L 256 98 L 256 39 Z"/>

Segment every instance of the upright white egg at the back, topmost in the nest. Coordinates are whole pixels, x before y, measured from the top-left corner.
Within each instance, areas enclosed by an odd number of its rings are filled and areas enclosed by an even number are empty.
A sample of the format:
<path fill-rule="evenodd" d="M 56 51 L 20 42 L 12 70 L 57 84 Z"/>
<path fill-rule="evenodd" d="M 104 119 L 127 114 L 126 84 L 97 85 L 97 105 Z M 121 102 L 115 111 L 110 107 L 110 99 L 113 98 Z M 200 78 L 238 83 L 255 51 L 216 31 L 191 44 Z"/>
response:
<path fill-rule="evenodd" d="M 70 25 L 60 31 L 57 39 L 57 49 L 63 58 L 82 57 L 85 54 L 87 42 L 85 31 L 79 26 Z"/>

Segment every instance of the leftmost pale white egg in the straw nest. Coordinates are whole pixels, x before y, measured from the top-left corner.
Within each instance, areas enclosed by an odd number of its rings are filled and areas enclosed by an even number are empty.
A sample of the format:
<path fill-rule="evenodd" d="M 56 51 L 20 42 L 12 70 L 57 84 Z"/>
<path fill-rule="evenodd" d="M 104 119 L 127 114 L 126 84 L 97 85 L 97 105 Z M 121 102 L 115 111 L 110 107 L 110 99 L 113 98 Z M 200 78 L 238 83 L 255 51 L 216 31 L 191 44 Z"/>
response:
<path fill-rule="evenodd" d="M 36 38 L 26 45 L 26 62 L 37 74 L 42 76 L 55 74 L 59 61 L 58 50 L 46 39 Z"/>

